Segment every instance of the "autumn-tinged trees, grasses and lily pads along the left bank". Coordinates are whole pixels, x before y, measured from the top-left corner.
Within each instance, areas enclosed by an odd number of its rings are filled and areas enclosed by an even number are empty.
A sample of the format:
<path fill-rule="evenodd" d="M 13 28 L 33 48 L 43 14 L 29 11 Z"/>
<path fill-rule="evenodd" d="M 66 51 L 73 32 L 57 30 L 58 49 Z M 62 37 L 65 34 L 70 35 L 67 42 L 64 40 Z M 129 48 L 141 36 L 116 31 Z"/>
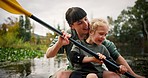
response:
<path fill-rule="evenodd" d="M 0 25 L 0 61 L 20 61 L 41 57 L 55 34 L 46 37 L 31 32 L 28 17 L 20 16 L 19 21 L 8 17 L 9 23 Z"/>

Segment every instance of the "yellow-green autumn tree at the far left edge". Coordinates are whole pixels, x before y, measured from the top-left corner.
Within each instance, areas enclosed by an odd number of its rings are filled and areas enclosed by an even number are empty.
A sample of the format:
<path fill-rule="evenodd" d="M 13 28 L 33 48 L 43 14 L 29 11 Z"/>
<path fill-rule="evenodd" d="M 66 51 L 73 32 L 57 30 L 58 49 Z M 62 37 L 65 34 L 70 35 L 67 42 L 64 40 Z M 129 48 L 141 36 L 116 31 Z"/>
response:
<path fill-rule="evenodd" d="M 18 38 L 18 21 L 8 17 L 10 22 L 3 23 L 0 28 L 0 47 L 14 47 L 13 45 L 19 40 Z"/>

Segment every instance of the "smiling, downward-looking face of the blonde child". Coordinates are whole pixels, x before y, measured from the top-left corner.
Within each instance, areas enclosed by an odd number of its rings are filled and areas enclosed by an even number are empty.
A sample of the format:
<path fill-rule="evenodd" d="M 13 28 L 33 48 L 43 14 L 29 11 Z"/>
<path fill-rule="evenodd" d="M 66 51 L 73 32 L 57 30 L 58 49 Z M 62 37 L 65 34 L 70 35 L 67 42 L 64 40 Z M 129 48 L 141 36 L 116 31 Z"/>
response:
<path fill-rule="evenodd" d="M 108 34 L 108 26 L 99 26 L 96 31 L 90 31 L 91 40 L 97 45 L 101 45 Z"/>

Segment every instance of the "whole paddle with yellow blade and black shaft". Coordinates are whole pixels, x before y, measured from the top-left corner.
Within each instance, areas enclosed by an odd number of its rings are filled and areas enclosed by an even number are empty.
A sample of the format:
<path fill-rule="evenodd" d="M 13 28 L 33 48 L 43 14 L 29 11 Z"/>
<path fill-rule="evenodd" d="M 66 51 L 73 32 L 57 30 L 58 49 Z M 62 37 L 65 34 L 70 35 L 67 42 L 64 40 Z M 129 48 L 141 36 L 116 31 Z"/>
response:
<path fill-rule="evenodd" d="M 59 35 L 63 35 L 61 31 L 53 28 L 52 26 L 48 25 L 47 23 L 43 22 L 42 20 L 40 20 L 39 18 L 35 17 L 33 14 L 31 14 L 30 12 L 24 10 L 19 3 L 16 0 L 0 0 L 0 7 L 3 8 L 4 10 L 13 13 L 13 14 L 24 14 L 30 18 L 32 18 L 33 20 L 39 22 L 40 24 L 42 24 L 43 26 L 47 27 L 48 29 L 56 32 Z M 69 40 L 75 44 L 76 46 L 80 47 L 81 49 L 83 49 L 84 51 L 88 52 L 89 54 L 93 55 L 95 58 L 99 59 L 98 54 L 96 54 L 95 52 L 93 52 L 92 50 L 88 49 L 87 47 L 83 46 L 82 44 L 78 43 L 77 41 L 75 41 L 72 38 L 69 38 Z M 103 60 L 104 62 L 106 62 L 107 64 L 111 65 L 113 68 L 115 68 L 116 70 L 119 70 L 119 66 L 117 66 L 116 64 L 112 63 L 111 61 L 105 59 Z M 135 78 L 134 76 L 132 76 L 130 73 L 125 72 L 124 75 L 130 77 L 130 78 Z"/>

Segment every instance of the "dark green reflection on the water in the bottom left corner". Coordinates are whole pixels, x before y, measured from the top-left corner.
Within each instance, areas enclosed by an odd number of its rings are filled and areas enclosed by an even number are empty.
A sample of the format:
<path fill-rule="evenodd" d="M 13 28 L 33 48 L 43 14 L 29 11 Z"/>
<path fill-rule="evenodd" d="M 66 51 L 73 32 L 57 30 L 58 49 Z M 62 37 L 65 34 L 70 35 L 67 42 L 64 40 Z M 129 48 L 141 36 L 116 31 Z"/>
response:
<path fill-rule="evenodd" d="M 0 78 L 24 78 L 31 73 L 31 62 L 0 63 Z"/>

